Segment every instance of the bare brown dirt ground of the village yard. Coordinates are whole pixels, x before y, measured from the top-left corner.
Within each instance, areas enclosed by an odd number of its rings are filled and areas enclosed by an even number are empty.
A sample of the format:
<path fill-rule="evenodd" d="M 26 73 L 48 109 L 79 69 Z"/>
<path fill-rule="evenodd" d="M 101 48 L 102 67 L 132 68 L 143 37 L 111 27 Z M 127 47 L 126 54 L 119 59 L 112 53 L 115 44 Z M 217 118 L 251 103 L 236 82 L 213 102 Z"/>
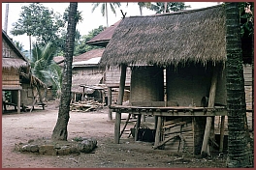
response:
<path fill-rule="evenodd" d="M 170 153 L 168 150 L 153 150 L 153 143 L 135 142 L 132 136 L 128 138 L 128 134 L 121 137 L 120 144 L 114 144 L 114 114 L 113 120 L 109 121 L 107 108 L 92 112 L 70 112 L 68 140 L 79 136 L 97 139 L 98 147 L 90 154 L 42 156 L 16 152 L 15 144 L 19 142 L 50 138 L 57 120 L 58 108 L 53 101 L 48 101 L 47 104 L 45 110 L 38 108 L 31 113 L 2 114 L 2 168 L 226 167 L 226 155 L 216 154 L 202 158 L 186 153 Z M 122 114 L 122 119 L 126 117 L 126 114 Z"/>

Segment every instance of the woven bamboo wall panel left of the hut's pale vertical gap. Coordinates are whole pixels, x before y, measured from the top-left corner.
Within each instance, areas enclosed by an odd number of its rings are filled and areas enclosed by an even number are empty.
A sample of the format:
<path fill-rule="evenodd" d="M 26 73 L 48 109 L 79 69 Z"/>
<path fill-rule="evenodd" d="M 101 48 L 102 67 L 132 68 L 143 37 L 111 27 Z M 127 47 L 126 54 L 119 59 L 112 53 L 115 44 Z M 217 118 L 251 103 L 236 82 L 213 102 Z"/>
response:
<path fill-rule="evenodd" d="M 130 103 L 136 101 L 163 101 L 164 74 L 162 68 L 135 67 L 131 75 Z"/>

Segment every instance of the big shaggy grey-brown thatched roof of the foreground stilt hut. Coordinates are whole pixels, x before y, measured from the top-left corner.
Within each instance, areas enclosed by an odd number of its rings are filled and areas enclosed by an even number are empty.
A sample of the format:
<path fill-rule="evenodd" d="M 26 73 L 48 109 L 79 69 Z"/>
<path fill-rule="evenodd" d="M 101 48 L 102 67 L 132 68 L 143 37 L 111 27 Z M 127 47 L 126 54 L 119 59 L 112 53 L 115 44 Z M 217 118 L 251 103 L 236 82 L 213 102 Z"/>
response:
<path fill-rule="evenodd" d="M 121 20 L 101 65 L 177 65 L 226 60 L 225 9 L 222 5 L 172 14 Z"/>

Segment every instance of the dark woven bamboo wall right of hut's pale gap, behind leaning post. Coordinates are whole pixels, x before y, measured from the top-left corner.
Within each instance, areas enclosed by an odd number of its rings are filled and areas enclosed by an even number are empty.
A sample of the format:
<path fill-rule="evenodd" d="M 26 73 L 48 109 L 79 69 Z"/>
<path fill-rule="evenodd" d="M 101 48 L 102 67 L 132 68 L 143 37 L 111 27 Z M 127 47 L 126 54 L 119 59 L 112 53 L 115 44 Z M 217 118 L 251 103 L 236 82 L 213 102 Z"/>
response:
<path fill-rule="evenodd" d="M 212 76 L 211 65 L 169 67 L 166 74 L 168 101 L 176 101 L 179 106 L 189 106 L 192 102 L 196 106 L 201 106 L 201 99 L 208 97 Z M 225 87 L 225 76 L 219 71 L 215 103 L 226 104 Z"/>

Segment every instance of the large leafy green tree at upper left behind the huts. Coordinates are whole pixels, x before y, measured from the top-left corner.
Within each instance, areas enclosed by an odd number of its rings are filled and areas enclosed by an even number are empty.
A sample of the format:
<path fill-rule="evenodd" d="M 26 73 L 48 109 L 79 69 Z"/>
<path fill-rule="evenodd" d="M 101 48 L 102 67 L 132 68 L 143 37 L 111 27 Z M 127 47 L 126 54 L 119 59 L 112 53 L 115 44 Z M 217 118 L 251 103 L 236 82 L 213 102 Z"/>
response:
<path fill-rule="evenodd" d="M 54 14 L 40 3 L 32 3 L 21 7 L 21 13 L 13 24 L 11 33 L 15 36 L 29 36 L 31 51 L 31 37 L 35 37 L 37 43 L 42 46 L 48 42 L 58 45 L 58 34 L 64 25 L 65 21 L 60 14 Z"/>

